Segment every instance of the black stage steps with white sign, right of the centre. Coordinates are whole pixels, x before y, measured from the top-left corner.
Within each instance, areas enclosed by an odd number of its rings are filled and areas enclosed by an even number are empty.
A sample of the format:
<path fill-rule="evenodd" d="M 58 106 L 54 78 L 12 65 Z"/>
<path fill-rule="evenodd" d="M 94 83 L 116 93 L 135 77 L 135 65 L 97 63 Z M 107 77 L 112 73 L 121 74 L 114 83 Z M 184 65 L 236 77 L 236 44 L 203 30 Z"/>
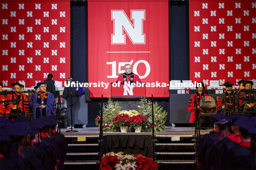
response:
<path fill-rule="evenodd" d="M 155 135 L 158 169 L 195 169 L 194 135 Z"/>

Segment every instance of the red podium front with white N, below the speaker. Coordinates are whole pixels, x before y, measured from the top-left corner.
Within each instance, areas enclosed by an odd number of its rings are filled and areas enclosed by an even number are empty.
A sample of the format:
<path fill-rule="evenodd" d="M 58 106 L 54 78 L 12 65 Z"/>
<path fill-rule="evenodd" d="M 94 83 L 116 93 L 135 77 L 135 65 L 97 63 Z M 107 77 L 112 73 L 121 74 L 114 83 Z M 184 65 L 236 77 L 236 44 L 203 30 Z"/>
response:
<path fill-rule="evenodd" d="M 113 86 L 114 85 L 114 86 Z M 145 84 L 137 83 L 135 86 L 111 83 L 111 98 L 141 98 L 146 97 Z"/>

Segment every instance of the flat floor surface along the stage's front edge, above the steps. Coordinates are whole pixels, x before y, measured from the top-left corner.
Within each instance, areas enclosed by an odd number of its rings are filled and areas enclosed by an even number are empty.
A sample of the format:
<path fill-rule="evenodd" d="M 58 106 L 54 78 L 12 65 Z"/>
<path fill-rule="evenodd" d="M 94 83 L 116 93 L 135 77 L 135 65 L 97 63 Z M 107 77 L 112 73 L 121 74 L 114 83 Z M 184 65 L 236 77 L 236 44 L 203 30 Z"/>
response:
<path fill-rule="evenodd" d="M 64 135 L 99 135 L 99 128 L 75 128 L 73 130 L 77 130 L 78 132 L 66 132 L 66 129 L 60 129 L 61 133 Z M 71 130 L 71 129 L 69 129 Z M 206 130 L 200 130 L 200 134 L 204 135 L 212 131 L 213 129 L 206 129 Z M 140 135 L 150 135 L 152 132 L 141 132 L 141 133 L 135 133 L 135 132 L 127 132 L 127 133 L 121 133 L 121 132 L 103 132 L 103 135 L 132 135 L 132 134 L 140 134 Z M 195 134 L 195 128 L 191 127 L 166 127 L 164 132 L 155 132 L 155 134 L 160 135 L 192 135 Z"/>

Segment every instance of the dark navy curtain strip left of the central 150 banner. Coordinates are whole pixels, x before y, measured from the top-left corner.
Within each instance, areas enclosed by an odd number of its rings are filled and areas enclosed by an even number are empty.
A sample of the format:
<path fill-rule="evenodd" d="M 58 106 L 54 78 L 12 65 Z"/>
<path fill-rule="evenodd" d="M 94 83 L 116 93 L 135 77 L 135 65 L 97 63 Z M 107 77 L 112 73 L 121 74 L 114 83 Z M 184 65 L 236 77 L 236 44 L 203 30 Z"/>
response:
<path fill-rule="evenodd" d="M 74 81 L 88 82 L 88 14 L 87 4 L 70 10 L 70 73 Z"/>

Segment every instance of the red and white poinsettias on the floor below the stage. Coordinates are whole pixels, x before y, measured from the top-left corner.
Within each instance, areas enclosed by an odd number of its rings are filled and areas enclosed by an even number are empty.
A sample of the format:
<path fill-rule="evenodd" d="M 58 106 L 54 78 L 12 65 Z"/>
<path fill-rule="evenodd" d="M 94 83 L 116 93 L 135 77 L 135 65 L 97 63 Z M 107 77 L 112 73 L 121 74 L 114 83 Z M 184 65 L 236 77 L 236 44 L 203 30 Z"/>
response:
<path fill-rule="evenodd" d="M 158 169 L 156 162 L 149 157 L 138 155 L 123 155 L 124 152 L 109 152 L 101 158 L 100 169 Z"/>

